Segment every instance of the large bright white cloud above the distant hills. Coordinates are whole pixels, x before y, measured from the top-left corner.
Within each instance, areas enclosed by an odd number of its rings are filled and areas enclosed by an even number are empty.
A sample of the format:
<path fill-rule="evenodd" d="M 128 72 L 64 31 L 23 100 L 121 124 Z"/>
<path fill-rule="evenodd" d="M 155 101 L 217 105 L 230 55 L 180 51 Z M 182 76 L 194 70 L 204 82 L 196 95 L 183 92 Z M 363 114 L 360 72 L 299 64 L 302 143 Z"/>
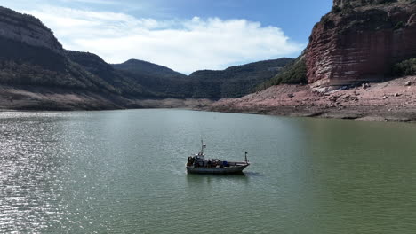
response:
<path fill-rule="evenodd" d="M 90 51 L 110 63 L 143 59 L 186 74 L 291 56 L 304 47 L 278 27 L 248 20 L 138 19 L 124 13 L 51 6 L 26 13 L 51 27 L 68 50 Z"/>

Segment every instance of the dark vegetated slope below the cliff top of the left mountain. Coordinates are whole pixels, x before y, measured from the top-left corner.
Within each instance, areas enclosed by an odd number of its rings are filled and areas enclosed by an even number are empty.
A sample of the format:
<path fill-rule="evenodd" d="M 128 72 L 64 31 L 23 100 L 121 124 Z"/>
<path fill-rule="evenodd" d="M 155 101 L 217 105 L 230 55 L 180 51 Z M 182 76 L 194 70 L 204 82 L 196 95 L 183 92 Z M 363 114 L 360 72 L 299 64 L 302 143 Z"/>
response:
<path fill-rule="evenodd" d="M 108 82 L 45 48 L 0 38 L 0 83 L 116 92 Z"/>

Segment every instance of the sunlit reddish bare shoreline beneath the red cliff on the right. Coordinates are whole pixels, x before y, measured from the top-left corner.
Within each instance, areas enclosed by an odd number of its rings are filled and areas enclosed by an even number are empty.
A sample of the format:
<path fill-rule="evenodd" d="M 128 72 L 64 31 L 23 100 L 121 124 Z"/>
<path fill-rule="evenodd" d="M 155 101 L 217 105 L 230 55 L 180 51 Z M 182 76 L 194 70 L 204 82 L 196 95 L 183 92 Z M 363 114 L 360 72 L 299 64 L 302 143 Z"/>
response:
<path fill-rule="evenodd" d="M 243 98 L 221 99 L 211 111 L 369 121 L 416 121 L 416 76 L 348 90 L 278 85 Z"/>

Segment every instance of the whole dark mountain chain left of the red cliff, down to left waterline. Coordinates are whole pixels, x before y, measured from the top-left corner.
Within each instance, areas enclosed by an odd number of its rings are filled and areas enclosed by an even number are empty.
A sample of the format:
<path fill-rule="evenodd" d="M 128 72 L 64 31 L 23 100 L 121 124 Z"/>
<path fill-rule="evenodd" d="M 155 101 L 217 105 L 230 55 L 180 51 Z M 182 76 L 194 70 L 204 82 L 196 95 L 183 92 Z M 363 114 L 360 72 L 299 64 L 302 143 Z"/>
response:
<path fill-rule="evenodd" d="M 98 55 L 63 49 L 40 20 L 0 7 L 0 108 L 108 109 L 148 106 L 145 99 L 237 98 L 291 61 L 190 75 L 137 59 L 110 65 Z"/>

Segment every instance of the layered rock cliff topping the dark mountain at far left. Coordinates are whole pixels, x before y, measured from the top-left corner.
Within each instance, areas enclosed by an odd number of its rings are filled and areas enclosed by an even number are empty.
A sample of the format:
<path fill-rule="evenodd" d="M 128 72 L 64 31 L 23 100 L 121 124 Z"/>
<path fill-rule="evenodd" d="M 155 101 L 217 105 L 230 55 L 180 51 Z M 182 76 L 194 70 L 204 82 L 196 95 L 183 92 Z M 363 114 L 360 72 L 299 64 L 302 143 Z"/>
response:
<path fill-rule="evenodd" d="M 0 7 L 0 37 L 63 54 L 52 31 L 33 16 Z"/>

